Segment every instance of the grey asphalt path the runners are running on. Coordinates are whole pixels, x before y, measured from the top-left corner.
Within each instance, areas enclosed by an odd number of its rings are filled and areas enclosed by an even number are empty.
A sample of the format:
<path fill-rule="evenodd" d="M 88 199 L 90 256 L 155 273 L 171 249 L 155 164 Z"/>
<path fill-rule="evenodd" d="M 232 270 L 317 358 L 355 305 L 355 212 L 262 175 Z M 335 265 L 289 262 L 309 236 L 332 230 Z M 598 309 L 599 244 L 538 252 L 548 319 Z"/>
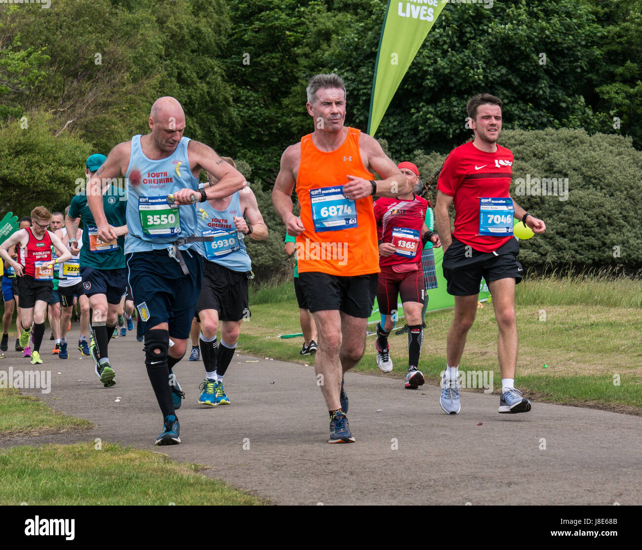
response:
<path fill-rule="evenodd" d="M 74 325 L 69 342 L 77 334 Z M 51 370 L 51 393 L 24 393 L 96 426 L 5 437 L 1 447 L 100 437 L 155 449 L 162 418 L 135 331 L 110 342 L 113 388 L 103 388 L 75 345 L 66 360 L 51 347 L 46 340 L 39 366 Z M 12 347 L 4 356 L 0 370 L 32 369 Z M 541 403 L 500 415 L 497 395 L 470 392 L 461 413 L 448 416 L 438 386 L 404 390 L 399 379 L 348 373 L 356 443 L 330 445 L 312 366 L 237 354 L 225 375 L 232 404 L 215 408 L 197 404 L 202 362 L 186 356 L 174 372 L 187 395 L 177 413 L 182 443 L 156 450 L 207 465 L 204 475 L 274 504 L 642 504 L 639 416 Z"/>

